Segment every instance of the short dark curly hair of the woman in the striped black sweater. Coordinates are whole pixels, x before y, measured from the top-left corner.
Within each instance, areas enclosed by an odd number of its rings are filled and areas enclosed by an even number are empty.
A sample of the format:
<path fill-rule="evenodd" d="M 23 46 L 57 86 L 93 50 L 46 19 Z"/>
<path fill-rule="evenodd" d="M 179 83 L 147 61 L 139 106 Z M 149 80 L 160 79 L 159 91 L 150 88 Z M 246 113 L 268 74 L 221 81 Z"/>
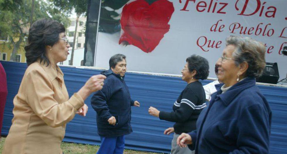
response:
<path fill-rule="evenodd" d="M 209 75 L 209 64 L 208 61 L 199 55 L 191 55 L 186 59 L 188 63 L 188 70 L 192 72 L 196 70 L 197 73 L 193 76 L 196 79 L 205 80 Z"/>

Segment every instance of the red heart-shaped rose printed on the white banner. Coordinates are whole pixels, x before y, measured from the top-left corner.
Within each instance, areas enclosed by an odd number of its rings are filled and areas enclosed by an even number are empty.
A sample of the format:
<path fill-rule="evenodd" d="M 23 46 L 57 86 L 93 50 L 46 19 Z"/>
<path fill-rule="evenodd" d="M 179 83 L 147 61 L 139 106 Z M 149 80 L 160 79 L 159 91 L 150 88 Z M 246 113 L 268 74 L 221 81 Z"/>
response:
<path fill-rule="evenodd" d="M 119 44 L 127 41 L 146 53 L 152 52 L 164 34 L 174 7 L 168 0 L 158 0 L 149 5 L 145 0 L 128 3 L 122 10 L 120 20 L 122 35 Z"/>

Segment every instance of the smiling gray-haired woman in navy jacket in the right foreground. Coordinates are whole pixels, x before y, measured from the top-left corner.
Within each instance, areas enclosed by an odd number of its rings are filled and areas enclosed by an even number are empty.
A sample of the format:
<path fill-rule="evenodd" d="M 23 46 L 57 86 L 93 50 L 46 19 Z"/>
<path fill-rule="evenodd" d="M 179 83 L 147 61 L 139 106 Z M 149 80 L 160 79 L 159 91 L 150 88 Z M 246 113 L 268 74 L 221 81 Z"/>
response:
<path fill-rule="evenodd" d="M 255 85 L 265 67 L 265 46 L 242 36 L 226 38 L 218 59 L 217 92 L 197 119 L 197 130 L 182 133 L 177 144 L 195 153 L 268 153 L 271 109 Z"/>

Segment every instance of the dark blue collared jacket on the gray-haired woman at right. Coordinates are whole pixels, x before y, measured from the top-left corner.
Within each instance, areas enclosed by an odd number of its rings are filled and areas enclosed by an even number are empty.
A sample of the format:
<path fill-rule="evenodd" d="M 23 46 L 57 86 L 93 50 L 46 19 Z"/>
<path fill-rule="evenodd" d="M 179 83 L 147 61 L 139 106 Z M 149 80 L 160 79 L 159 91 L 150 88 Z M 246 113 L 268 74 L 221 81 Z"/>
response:
<path fill-rule="evenodd" d="M 247 77 L 222 94 L 223 84 L 211 97 L 197 119 L 197 130 L 189 133 L 197 154 L 268 153 L 271 109 L 255 85 Z"/>

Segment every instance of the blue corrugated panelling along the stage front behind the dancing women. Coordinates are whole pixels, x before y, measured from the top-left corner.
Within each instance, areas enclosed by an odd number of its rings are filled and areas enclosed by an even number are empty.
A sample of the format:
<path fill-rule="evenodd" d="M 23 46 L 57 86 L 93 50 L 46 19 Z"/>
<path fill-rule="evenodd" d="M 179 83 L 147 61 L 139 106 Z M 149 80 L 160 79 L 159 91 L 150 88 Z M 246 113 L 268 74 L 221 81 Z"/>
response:
<path fill-rule="evenodd" d="M 13 118 L 13 98 L 18 92 L 23 74 L 27 68 L 24 63 L 1 61 L 8 84 L 8 97 L 4 111 L 2 135 L 7 135 Z M 69 96 L 77 92 L 92 75 L 99 70 L 61 67 Z M 148 114 L 150 106 L 160 111 L 171 111 L 172 105 L 186 86 L 181 78 L 127 73 L 125 76 L 131 97 L 141 103 L 141 107 L 132 107 L 131 125 L 134 132 L 126 136 L 125 148 L 134 150 L 169 153 L 172 135 L 166 136 L 163 131 L 172 127 L 172 122 L 159 120 Z M 210 81 L 201 81 L 203 85 Z M 287 151 L 287 88 L 259 85 L 260 90 L 269 101 L 272 109 L 272 126 L 270 153 Z M 100 145 L 97 134 L 96 112 L 90 105 L 90 97 L 85 103 L 89 106 L 86 117 L 76 115 L 67 124 L 64 141 Z M 248 129 L 248 128 L 247 128 Z"/>

